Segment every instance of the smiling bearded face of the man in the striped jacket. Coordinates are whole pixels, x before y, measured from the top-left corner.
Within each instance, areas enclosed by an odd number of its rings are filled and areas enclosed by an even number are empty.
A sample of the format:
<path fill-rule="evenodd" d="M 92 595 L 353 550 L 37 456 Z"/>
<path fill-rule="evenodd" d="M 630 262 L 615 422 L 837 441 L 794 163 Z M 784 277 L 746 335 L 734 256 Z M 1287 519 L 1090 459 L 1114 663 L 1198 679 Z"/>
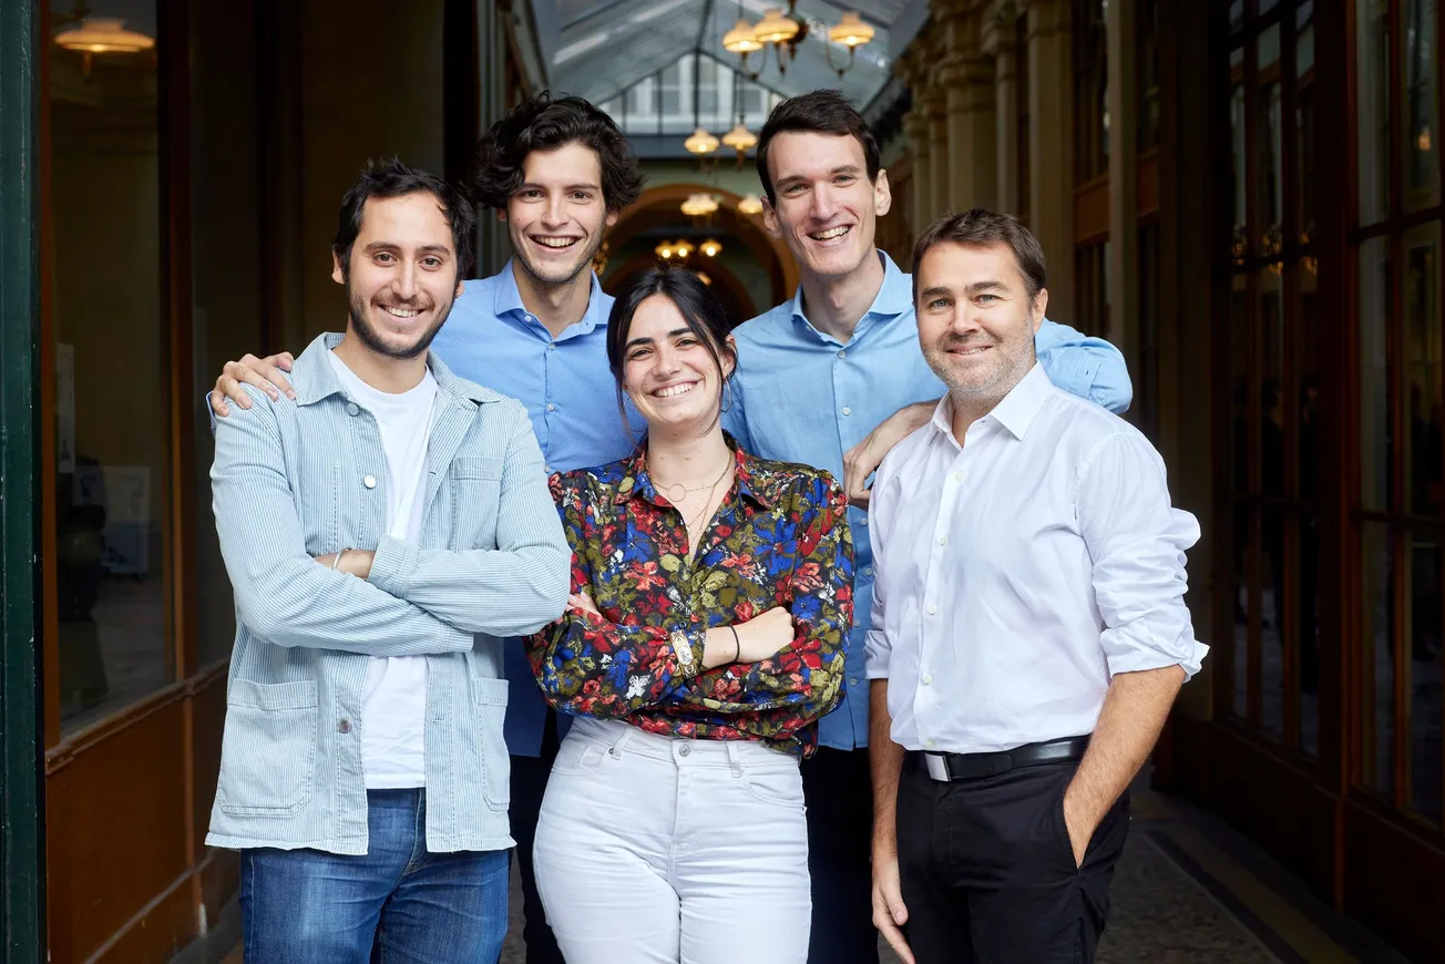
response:
<path fill-rule="evenodd" d="M 368 198 L 347 267 L 332 254 L 331 277 L 345 285 L 348 331 L 377 354 L 426 351 L 461 295 L 455 240 L 428 191 Z"/>

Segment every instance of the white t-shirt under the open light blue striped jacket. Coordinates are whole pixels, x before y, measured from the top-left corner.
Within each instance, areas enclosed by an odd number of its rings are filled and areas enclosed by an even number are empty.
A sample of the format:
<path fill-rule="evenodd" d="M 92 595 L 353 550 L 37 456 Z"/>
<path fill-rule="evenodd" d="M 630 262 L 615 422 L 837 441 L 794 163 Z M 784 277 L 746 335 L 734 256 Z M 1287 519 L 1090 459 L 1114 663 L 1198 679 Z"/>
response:
<path fill-rule="evenodd" d="M 432 434 L 436 379 L 432 370 L 415 389 L 379 392 L 329 353 L 341 387 L 370 412 L 386 452 L 386 532 L 412 545 L 422 541 L 426 507 L 426 444 Z M 361 688 L 361 769 L 367 789 L 426 786 L 426 656 L 373 656 Z"/>

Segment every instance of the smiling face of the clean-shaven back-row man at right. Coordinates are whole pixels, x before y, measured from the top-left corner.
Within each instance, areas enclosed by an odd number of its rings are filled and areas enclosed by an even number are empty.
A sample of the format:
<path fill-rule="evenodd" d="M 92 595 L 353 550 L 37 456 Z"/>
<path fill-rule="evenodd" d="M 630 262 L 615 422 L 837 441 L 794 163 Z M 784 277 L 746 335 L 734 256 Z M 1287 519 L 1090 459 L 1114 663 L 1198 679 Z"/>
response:
<path fill-rule="evenodd" d="M 889 212 L 889 176 L 868 182 L 863 145 L 850 134 L 777 134 L 767 146 L 776 201 L 763 221 L 805 275 L 840 277 L 873 256 L 877 220 Z"/>

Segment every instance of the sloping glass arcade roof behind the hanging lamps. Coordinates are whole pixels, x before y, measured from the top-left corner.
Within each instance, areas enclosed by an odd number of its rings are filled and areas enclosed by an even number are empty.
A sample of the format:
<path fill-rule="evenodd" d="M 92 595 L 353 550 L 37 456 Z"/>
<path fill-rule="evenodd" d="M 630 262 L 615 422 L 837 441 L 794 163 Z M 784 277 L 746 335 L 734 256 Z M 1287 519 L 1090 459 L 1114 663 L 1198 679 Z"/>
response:
<path fill-rule="evenodd" d="M 841 88 L 860 108 L 889 82 L 889 27 L 910 0 L 847 1 L 798 0 L 796 12 L 809 23 L 798 56 L 779 72 L 773 51 L 766 61 L 749 55 L 749 71 L 762 74 L 757 84 L 782 97 L 818 88 Z M 652 77 L 679 58 L 698 52 L 727 68 L 738 66 L 738 55 L 722 49 L 722 36 L 738 17 L 757 23 L 770 9 L 788 12 L 786 0 L 552 0 L 559 22 L 556 49 L 548 74 L 553 91 L 581 94 L 594 104 L 616 98 L 639 81 Z M 860 9 L 866 7 L 866 9 Z M 838 77 L 827 55 L 842 66 L 847 48 L 828 40 L 828 29 L 847 12 L 861 13 L 873 26 L 873 40 L 860 46 L 853 66 Z"/>

